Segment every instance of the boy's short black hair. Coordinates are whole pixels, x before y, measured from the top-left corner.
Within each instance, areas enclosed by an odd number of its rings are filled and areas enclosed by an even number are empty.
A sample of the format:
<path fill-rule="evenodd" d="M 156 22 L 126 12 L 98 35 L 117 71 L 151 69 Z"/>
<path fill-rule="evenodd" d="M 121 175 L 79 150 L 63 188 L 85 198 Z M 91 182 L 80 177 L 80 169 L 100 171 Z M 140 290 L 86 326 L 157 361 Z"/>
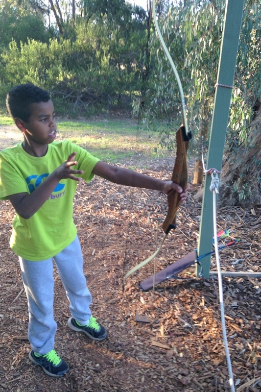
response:
<path fill-rule="evenodd" d="M 15 119 L 18 117 L 24 122 L 28 122 L 32 103 L 47 102 L 50 99 L 49 93 L 32 83 L 20 84 L 12 88 L 7 94 L 6 106 L 9 114 Z"/>

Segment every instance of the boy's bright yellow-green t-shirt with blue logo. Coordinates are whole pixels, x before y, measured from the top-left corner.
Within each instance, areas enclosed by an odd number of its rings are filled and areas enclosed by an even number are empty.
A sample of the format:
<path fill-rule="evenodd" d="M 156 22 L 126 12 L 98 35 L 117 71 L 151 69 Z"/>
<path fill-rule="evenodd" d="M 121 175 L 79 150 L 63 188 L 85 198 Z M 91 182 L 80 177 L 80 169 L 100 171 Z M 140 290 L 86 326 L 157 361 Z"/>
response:
<path fill-rule="evenodd" d="M 77 152 L 75 160 L 78 162 L 77 168 L 73 168 L 83 170 L 80 176 L 87 182 L 91 181 L 98 158 L 70 141 L 49 144 L 43 157 L 27 154 L 22 143 L 0 151 L 0 199 L 33 192 L 73 151 Z M 77 233 L 73 222 L 76 187 L 77 181 L 61 180 L 31 218 L 23 219 L 16 215 L 10 238 L 10 246 L 16 254 L 27 260 L 46 260 L 71 244 Z"/>

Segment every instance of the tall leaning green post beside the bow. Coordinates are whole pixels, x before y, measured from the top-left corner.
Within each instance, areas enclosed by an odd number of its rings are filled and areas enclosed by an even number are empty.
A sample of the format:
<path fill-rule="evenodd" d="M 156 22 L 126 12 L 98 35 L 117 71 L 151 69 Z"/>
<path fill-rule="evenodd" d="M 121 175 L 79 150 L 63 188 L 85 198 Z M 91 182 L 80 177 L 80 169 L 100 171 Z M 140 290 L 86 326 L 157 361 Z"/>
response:
<path fill-rule="evenodd" d="M 214 168 L 221 171 L 222 167 L 243 5 L 244 0 L 227 0 L 226 2 L 206 169 Z M 214 228 L 213 194 L 210 191 L 211 180 L 211 175 L 206 175 L 198 244 L 199 257 L 212 251 Z M 211 256 L 206 256 L 201 260 L 202 275 L 206 278 L 210 275 L 210 262 Z M 198 267 L 196 273 L 199 273 Z"/>

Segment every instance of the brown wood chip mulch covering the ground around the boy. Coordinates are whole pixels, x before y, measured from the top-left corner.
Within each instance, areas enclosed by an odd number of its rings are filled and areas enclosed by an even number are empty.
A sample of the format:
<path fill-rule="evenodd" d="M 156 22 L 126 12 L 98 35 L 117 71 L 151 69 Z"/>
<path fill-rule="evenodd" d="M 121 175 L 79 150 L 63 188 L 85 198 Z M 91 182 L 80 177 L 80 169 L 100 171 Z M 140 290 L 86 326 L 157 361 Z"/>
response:
<path fill-rule="evenodd" d="M 167 178 L 171 164 L 161 159 L 143 167 L 143 173 Z M 198 186 L 191 188 L 178 226 L 156 259 L 156 271 L 197 247 L 201 204 L 193 198 Z M 154 252 L 156 238 L 161 241 L 160 219 L 166 210 L 166 196 L 158 192 L 99 178 L 79 184 L 74 212 L 84 271 L 93 315 L 108 329 L 108 338 L 95 343 L 68 328 L 68 300 L 55 270 L 55 348 L 70 372 L 52 378 L 28 359 L 27 302 L 17 256 L 9 248 L 14 212 L 8 201 L 0 203 L 0 391 L 230 391 L 217 277 L 197 277 L 190 267 L 180 274 L 185 279 L 167 280 L 154 293 L 142 292 L 139 282 L 153 274 L 151 261 L 124 279 Z M 220 251 L 222 270 L 261 272 L 261 208 L 221 208 L 217 224 L 218 230 L 233 229 L 230 239 L 240 239 Z M 236 391 L 261 391 L 261 278 L 222 281 Z"/>

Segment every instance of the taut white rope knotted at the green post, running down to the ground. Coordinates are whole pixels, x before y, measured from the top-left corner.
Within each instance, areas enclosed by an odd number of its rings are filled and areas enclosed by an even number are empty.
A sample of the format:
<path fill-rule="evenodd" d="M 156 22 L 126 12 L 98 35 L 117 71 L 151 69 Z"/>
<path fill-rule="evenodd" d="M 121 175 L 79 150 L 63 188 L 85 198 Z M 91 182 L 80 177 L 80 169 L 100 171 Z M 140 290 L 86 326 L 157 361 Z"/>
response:
<path fill-rule="evenodd" d="M 224 300 L 223 300 L 223 288 L 222 288 L 222 275 L 221 275 L 221 268 L 220 268 L 220 261 L 219 261 L 219 253 L 218 253 L 218 244 L 217 244 L 217 229 L 216 229 L 216 193 L 218 193 L 218 183 L 219 180 L 217 177 L 217 171 L 215 169 L 211 169 L 212 182 L 210 190 L 213 192 L 213 222 L 214 222 L 214 248 L 215 248 L 215 257 L 216 257 L 216 267 L 217 267 L 217 276 L 218 276 L 218 288 L 219 288 L 219 302 L 220 302 L 220 311 L 221 311 L 221 322 L 222 322 L 222 332 L 223 332 L 223 341 L 225 345 L 225 352 L 227 358 L 227 365 L 229 371 L 229 385 L 232 392 L 235 392 L 235 385 L 233 379 L 233 371 L 231 366 L 231 360 L 229 355 L 229 348 L 228 348 L 228 340 L 227 340 L 227 333 L 226 333 L 226 322 L 225 322 L 225 312 L 224 312 Z M 218 180 L 218 181 L 217 181 Z"/>

